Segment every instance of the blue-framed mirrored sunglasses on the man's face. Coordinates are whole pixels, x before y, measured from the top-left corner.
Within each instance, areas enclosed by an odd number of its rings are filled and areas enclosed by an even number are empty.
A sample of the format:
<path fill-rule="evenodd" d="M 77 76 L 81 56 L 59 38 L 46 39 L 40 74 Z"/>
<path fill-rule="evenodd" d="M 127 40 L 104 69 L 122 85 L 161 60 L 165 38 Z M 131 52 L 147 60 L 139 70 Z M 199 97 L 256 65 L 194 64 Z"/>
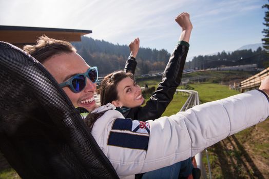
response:
<path fill-rule="evenodd" d="M 76 74 L 72 76 L 66 82 L 59 84 L 61 87 L 69 86 L 72 92 L 80 93 L 86 86 L 86 81 L 88 77 L 91 82 L 95 83 L 98 80 L 98 69 L 97 66 L 92 66 L 87 70 L 86 73 Z"/>

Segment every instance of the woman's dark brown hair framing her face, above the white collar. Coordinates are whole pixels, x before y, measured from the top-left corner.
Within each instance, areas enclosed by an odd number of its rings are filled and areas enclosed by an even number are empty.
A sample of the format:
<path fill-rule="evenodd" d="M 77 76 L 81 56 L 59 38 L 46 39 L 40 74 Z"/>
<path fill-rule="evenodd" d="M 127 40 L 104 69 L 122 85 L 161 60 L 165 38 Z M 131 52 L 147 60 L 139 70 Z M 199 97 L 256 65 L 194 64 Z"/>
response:
<path fill-rule="evenodd" d="M 118 99 L 117 86 L 126 77 L 133 79 L 132 73 L 117 71 L 107 75 L 100 84 L 101 105 L 106 105 Z"/>

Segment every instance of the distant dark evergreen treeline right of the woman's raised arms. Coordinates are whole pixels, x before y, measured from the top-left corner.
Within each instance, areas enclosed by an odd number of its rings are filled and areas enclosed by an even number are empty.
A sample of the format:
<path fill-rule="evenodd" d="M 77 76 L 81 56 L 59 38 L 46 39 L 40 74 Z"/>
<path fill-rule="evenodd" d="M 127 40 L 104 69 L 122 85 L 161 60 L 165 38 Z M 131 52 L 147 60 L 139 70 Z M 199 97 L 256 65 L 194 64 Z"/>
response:
<path fill-rule="evenodd" d="M 258 68 L 267 68 L 269 66 L 269 59 L 266 57 L 265 50 L 262 50 L 261 47 L 256 51 L 251 49 L 237 50 L 232 53 L 223 51 L 217 55 L 199 55 L 194 57 L 193 60 L 186 62 L 185 69 L 204 70 L 243 64 L 257 64 Z"/>

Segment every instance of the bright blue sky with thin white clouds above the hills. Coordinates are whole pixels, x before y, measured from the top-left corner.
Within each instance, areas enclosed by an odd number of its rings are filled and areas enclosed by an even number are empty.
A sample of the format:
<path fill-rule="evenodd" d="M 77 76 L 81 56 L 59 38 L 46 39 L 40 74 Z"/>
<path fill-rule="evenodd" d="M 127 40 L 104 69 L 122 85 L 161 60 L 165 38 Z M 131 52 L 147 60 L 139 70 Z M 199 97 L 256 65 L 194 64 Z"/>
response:
<path fill-rule="evenodd" d="M 234 51 L 261 43 L 265 0 L 0 0 L 0 25 L 92 30 L 87 36 L 174 50 L 181 28 L 175 17 L 190 14 L 188 57 Z"/>

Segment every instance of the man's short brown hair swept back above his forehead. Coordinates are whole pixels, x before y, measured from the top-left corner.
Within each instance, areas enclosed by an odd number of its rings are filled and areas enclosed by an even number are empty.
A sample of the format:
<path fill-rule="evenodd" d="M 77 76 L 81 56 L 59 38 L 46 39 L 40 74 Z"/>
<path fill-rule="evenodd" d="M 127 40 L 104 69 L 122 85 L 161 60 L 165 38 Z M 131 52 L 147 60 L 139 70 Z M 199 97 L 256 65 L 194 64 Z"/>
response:
<path fill-rule="evenodd" d="M 76 52 L 71 43 L 49 38 L 46 35 L 40 36 L 36 42 L 35 46 L 26 45 L 23 50 L 41 63 L 54 55 Z"/>

